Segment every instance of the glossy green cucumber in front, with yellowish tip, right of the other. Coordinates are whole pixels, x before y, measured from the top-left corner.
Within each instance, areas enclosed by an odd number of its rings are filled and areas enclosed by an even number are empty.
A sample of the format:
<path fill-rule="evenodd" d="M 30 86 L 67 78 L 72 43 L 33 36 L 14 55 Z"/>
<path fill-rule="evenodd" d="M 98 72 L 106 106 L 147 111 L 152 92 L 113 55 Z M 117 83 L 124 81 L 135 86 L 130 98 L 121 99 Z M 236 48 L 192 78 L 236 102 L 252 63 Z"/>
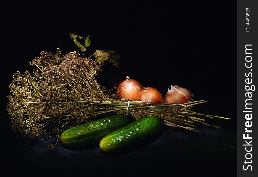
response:
<path fill-rule="evenodd" d="M 159 117 L 143 117 L 103 137 L 99 147 L 106 153 L 120 152 L 139 142 L 147 141 L 161 128 L 162 122 Z"/>

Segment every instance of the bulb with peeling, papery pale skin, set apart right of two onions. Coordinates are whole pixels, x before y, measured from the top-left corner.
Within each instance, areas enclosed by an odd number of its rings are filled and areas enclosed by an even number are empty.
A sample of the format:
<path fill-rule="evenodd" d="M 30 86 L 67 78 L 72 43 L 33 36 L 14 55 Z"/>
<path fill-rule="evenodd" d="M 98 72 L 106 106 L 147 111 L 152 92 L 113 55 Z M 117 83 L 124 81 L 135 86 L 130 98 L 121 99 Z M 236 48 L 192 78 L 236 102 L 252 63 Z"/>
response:
<path fill-rule="evenodd" d="M 164 102 L 183 104 L 190 102 L 191 98 L 192 94 L 188 89 L 171 85 L 171 89 L 168 88 L 168 92 L 164 97 Z"/>

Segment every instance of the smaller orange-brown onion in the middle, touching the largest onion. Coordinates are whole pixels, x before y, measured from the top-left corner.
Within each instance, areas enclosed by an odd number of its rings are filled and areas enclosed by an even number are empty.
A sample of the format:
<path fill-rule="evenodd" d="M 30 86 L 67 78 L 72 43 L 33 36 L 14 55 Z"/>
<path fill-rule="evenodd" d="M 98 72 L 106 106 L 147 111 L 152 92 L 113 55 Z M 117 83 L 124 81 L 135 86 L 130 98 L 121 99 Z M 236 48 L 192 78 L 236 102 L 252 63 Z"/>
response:
<path fill-rule="evenodd" d="M 153 87 L 143 87 L 138 100 L 151 100 L 152 103 L 163 103 L 162 94 Z"/>

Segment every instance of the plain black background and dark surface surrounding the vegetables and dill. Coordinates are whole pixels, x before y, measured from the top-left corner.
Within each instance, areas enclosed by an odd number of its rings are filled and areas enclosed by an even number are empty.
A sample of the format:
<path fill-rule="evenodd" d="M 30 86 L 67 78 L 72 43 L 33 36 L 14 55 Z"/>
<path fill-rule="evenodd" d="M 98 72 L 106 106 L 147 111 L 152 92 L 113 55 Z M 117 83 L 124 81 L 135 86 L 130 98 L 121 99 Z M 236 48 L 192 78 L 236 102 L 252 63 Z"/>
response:
<path fill-rule="evenodd" d="M 236 3 L 205 2 L 4 2 L 1 6 L 3 171 L 24 174 L 82 173 L 90 176 L 236 176 L 237 42 Z M 99 148 L 82 151 L 58 146 L 55 140 L 28 140 L 12 132 L 7 107 L 8 85 L 16 71 L 30 70 L 41 51 L 63 54 L 79 48 L 68 33 L 90 35 L 95 50 L 114 50 L 120 66 L 103 67 L 99 83 L 108 89 L 126 76 L 166 94 L 170 84 L 189 89 L 205 114 L 230 120 L 207 120 L 222 127 L 201 134 L 164 127 L 155 142 L 122 155 Z"/>

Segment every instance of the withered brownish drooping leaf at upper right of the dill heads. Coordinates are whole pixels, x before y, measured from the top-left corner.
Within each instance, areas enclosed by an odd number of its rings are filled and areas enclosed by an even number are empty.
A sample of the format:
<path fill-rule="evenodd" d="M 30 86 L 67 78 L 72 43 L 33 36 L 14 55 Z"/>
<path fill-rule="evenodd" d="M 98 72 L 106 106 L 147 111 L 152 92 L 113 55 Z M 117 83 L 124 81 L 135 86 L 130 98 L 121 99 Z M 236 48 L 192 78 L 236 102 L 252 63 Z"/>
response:
<path fill-rule="evenodd" d="M 109 60 L 110 63 L 115 65 L 116 67 L 119 66 L 120 60 L 119 60 L 119 54 L 117 54 L 114 51 L 111 50 L 96 50 L 96 52 L 93 54 L 96 58 L 96 60 L 102 64 L 105 63 L 106 60 Z"/>

